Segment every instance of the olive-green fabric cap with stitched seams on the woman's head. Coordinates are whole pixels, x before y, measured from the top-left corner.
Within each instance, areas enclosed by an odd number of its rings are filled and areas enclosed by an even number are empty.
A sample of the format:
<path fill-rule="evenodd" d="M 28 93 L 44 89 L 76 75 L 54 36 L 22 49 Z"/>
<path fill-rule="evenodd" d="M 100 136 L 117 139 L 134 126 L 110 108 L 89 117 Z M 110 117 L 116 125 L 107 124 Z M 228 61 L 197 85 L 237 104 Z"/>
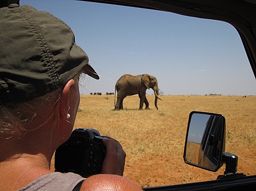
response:
<path fill-rule="evenodd" d="M 99 79 L 62 20 L 29 5 L 0 9 L 0 106 L 64 87 L 82 69 Z"/>

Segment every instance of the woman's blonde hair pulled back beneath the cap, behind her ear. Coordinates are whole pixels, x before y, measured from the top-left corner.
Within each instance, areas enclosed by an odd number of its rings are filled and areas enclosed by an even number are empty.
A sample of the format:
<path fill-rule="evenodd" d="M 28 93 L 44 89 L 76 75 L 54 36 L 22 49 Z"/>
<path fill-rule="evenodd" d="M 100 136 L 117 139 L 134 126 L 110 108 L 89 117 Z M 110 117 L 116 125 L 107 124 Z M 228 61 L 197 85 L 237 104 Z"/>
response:
<path fill-rule="evenodd" d="M 17 139 L 26 131 L 40 128 L 42 124 L 34 120 L 37 117 L 45 117 L 44 123 L 58 117 L 62 91 L 58 89 L 30 101 L 0 107 L 0 138 Z M 51 112 L 43 112 L 46 108 Z"/>

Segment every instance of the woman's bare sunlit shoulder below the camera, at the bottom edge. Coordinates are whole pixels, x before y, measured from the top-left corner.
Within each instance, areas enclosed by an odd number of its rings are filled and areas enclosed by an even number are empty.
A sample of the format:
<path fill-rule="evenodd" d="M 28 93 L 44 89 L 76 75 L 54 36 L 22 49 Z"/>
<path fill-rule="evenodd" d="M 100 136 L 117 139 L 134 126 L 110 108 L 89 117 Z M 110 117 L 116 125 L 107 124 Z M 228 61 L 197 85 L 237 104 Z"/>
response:
<path fill-rule="evenodd" d="M 81 190 L 142 190 L 134 182 L 113 174 L 97 174 L 87 178 Z"/>

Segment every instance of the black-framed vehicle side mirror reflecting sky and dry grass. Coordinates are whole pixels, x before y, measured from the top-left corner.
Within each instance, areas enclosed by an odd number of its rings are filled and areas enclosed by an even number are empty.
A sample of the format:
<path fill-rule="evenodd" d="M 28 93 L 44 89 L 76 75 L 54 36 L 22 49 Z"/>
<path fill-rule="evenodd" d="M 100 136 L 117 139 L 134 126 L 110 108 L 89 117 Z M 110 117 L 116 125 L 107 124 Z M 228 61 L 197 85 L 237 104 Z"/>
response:
<path fill-rule="evenodd" d="M 191 112 L 183 156 L 185 163 L 213 172 L 222 167 L 225 127 L 223 115 Z"/>

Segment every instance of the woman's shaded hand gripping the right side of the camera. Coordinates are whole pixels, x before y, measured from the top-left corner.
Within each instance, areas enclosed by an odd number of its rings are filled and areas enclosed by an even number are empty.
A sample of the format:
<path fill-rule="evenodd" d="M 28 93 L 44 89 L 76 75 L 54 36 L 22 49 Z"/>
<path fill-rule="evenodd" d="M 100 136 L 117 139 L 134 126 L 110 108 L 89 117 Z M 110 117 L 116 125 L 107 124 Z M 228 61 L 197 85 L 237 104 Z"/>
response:
<path fill-rule="evenodd" d="M 105 137 L 102 143 L 106 146 L 106 156 L 103 160 L 101 173 L 123 175 L 124 164 L 126 160 L 126 152 L 124 152 L 121 144 L 114 138 Z"/>

